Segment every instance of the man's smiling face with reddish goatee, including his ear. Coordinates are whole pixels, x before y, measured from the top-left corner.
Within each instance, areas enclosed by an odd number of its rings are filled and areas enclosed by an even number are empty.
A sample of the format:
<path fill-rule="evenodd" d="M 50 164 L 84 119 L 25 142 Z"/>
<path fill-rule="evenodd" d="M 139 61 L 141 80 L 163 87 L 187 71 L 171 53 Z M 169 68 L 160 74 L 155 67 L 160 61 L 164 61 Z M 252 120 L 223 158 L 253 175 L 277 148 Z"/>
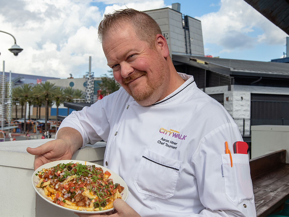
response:
<path fill-rule="evenodd" d="M 131 25 L 110 30 L 102 48 L 113 77 L 143 106 L 167 96 L 168 64 L 156 40 L 156 48 L 141 41 Z"/>

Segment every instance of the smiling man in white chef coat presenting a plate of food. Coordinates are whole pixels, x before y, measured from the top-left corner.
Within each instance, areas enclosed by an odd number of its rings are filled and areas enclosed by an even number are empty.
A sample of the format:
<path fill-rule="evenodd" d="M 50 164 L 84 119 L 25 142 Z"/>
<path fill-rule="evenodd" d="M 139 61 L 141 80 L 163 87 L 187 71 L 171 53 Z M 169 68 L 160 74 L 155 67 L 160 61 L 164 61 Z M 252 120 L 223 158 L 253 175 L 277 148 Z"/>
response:
<path fill-rule="evenodd" d="M 237 125 L 214 99 L 178 74 L 158 24 L 133 9 L 105 15 L 99 38 L 123 88 L 73 112 L 57 139 L 27 151 L 34 168 L 71 159 L 79 147 L 107 142 L 104 166 L 129 187 L 116 216 L 255 216 L 247 155 Z M 81 215 L 80 215 L 81 216 Z"/>

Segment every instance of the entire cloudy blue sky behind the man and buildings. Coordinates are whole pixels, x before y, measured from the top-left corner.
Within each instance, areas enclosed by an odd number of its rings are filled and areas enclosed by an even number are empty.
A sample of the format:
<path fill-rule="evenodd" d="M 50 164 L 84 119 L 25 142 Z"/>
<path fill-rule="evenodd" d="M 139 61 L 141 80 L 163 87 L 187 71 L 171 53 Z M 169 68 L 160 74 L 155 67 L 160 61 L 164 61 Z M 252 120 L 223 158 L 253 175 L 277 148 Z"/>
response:
<path fill-rule="evenodd" d="M 201 21 L 205 55 L 271 61 L 286 52 L 288 35 L 243 0 L 9 0 L 0 1 L 0 71 L 56 78 L 108 74 L 97 27 L 104 14 L 123 8 L 153 10 L 180 3 Z M 289 54 L 288 54 L 289 56 Z"/>

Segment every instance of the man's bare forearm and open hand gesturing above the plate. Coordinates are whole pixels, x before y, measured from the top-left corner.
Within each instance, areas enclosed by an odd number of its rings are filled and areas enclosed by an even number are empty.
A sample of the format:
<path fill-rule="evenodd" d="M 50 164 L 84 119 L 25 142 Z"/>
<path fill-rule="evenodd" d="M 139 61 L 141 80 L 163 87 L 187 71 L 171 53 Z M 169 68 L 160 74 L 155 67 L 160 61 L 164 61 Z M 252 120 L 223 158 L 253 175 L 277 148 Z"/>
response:
<path fill-rule="evenodd" d="M 57 139 L 36 148 L 28 147 L 26 151 L 35 155 L 34 170 L 36 170 L 51 161 L 70 160 L 81 146 L 81 134 L 70 127 L 64 127 L 57 133 Z"/>

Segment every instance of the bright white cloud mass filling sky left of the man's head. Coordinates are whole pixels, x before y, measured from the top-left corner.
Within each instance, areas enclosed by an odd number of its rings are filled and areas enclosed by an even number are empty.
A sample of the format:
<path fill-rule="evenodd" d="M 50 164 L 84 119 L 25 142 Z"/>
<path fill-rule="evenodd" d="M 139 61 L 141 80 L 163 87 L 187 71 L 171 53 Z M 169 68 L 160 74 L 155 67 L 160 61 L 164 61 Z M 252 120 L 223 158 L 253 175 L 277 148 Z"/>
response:
<path fill-rule="evenodd" d="M 78 78 L 88 71 L 92 56 L 94 76 L 107 73 L 109 67 L 97 41 L 103 12 L 92 2 L 114 3 L 105 7 L 105 13 L 126 7 L 137 10 L 165 7 L 163 0 L 129 0 L 125 4 L 117 0 L 0 1 L 0 30 L 13 34 L 24 49 L 15 57 L 7 50 L 14 44 L 13 38 L 0 33 L 0 62 L 5 60 L 5 71 L 58 78 L 73 74 Z"/>

